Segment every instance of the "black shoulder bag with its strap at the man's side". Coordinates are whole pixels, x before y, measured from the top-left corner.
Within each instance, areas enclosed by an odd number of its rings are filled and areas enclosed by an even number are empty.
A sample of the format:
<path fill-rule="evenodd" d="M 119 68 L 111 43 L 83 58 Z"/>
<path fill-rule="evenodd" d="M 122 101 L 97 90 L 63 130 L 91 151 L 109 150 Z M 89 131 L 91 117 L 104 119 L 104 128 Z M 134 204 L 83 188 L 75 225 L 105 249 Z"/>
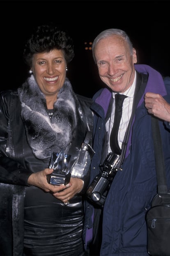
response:
<path fill-rule="evenodd" d="M 167 190 L 159 123 L 152 117 L 157 194 L 146 214 L 147 251 L 152 256 L 170 256 L 170 192 Z"/>

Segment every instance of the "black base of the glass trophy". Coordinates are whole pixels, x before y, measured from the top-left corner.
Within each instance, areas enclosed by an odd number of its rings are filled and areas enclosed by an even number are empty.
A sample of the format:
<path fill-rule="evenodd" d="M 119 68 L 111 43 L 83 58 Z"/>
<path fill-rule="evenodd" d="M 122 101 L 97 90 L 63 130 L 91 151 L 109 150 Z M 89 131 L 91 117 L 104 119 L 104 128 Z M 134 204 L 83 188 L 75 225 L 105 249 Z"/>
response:
<path fill-rule="evenodd" d="M 47 175 L 47 181 L 52 185 L 67 185 L 70 181 L 71 174 L 49 174 Z"/>

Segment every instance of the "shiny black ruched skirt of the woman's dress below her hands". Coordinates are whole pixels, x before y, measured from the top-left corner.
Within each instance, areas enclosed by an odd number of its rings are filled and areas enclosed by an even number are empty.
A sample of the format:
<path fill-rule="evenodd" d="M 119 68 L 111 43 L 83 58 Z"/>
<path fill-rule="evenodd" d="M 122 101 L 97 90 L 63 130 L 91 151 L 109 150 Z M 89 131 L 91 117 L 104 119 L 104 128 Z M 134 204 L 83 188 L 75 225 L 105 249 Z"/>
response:
<path fill-rule="evenodd" d="M 50 193 L 30 186 L 24 210 L 25 256 L 83 256 L 83 205 L 76 196 L 64 205 Z"/>

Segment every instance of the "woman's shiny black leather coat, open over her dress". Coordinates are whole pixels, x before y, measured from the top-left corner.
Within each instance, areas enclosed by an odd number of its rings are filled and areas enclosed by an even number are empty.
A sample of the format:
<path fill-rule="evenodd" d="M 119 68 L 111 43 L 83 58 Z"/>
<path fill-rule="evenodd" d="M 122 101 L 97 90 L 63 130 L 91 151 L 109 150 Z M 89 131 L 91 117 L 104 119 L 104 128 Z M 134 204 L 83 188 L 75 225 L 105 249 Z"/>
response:
<path fill-rule="evenodd" d="M 83 122 L 77 125 L 74 146 L 80 148 L 87 126 L 92 129 L 92 99 L 77 95 Z M 81 132 L 79 132 L 81 131 Z M 80 135 L 82 134 L 82 135 Z M 0 94 L 0 255 L 23 255 L 23 213 L 27 180 L 49 162 L 34 157 L 27 143 L 17 92 Z M 87 181 L 88 182 L 88 181 Z"/>

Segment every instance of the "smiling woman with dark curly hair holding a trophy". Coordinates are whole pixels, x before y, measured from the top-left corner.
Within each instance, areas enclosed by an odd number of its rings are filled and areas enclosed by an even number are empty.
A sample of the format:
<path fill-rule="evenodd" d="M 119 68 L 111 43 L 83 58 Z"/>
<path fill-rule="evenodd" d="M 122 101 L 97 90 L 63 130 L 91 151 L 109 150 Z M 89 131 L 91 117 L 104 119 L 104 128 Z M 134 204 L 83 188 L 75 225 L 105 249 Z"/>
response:
<path fill-rule="evenodd" d="M 66 76 L 73 57 L 66 32 L 37 27 L 24 49 L 30 76 L 0 94 L 0 255 L 84 255 L 92 100 Z"/>

